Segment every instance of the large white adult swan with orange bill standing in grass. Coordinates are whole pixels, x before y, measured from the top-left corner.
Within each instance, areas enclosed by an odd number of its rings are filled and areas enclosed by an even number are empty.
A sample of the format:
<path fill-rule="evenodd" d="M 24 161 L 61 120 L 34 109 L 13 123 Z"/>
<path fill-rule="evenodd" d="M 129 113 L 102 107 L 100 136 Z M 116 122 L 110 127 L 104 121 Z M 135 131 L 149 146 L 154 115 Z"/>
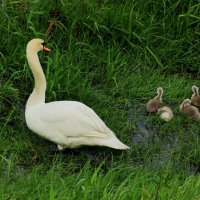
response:
<path fill-rule="evenodd" d="M 33 39 L 27 44 L 27 60 L 35 80 L 25 110 L 29 129 L 56 143 L 59 150 L 83 145 L 129 149 L 85 104 L 77 101 L 45 103 L 46 79 L 37 55 L 41 50 L 49 50 L 42 39 Z"/>

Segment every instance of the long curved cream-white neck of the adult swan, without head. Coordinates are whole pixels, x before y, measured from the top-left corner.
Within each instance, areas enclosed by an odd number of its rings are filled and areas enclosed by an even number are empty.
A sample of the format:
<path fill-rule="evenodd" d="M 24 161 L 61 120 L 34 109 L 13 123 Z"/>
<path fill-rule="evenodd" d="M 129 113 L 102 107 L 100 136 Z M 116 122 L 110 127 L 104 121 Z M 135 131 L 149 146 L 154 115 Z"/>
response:
<path fill-rule="evenodd" d="M 37 52 L 28 49 L 26 51 L 26 55 L 29 67 L 31 68 L 35 81 L 35 87 L 27 101 L 27 106 L 44 103 L 45 91 L 46 91 L 46 79 L 42 67 L 40 65 Z"/>

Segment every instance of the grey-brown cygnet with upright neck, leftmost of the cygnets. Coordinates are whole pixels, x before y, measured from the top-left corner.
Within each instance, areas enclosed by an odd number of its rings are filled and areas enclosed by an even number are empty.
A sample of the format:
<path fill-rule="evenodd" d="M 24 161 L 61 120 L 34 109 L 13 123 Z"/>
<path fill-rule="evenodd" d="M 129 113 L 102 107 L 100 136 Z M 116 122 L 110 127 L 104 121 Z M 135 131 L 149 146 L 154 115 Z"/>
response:
<path fill-rule="evenodd" d="M 154 97 L 153 99 L 150 99 L 146 104 L 146 110 L 148 112 L 155 112 L 162 107 L 163 105 L 162 95 L 163 95 L 163 89 L 161 87 L 158 87 L 157 96 Z"/>

